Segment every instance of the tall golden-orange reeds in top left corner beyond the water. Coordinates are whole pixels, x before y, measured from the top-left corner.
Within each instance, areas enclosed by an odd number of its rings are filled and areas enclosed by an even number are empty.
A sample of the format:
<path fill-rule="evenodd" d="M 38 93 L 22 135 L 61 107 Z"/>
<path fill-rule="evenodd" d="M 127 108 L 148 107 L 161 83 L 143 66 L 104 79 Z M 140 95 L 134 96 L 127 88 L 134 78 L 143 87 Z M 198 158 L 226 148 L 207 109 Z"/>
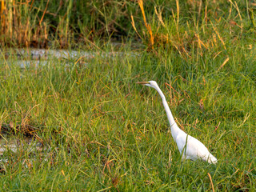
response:
<path fill-rule="evenodd" d="M 33 1 L 34 2 L 34 1 Z M 49 26 L 42 22 L 43 16 L 38 25 L 38 15 L 31 17 L 30 11 L 33 3 L 30 0 L 25 2 L 2 1 L 1 5 L 1 42 L 7 46 L 46 46 Z M 4 35 L 3 35 L 4 34 Z"/>

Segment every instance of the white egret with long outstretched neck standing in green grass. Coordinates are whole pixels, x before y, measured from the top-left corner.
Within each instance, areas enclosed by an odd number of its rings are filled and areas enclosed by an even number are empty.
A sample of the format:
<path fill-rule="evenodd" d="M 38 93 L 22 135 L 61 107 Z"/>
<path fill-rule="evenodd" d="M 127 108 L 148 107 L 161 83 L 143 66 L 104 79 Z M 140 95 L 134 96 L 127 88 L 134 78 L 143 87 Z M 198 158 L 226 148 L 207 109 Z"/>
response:
<path fill-rule="evenodd" d="M 207 150 L 206 146 L 204 146 L 202 142 L 186 134 L 178 127 L 177 123 L 174 121 L 173 115 L 170 112 L 170 108 L 166 102 L 166 97 L 164 94 L 162 94 L 162 90 L 160 90 L 158 83 L 154 81 L 137 83 L 153 87 L 158 91 L 158 94 L 160 94 L 162 98 L 162 104 L 165 107 L 167 118 L 170 122 L 171 135 L 174 138 L 174 142 L 177 143 L 178 150 L 182 154 L 182 158 L 192 160 L 201 158 L 203 161 L 209 163 L 217 163 L 217 158 L 210 154 L 209 150 Z"/>

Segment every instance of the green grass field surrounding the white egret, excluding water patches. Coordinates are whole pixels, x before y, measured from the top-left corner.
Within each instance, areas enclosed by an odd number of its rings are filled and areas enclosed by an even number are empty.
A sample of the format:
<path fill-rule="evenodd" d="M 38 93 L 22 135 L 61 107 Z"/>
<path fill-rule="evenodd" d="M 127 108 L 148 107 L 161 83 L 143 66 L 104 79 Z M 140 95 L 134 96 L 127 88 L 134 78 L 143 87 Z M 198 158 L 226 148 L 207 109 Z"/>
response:
<path fill-rule="evenodd" d="M 162 22 L 145 14 L 138 28 L 134 18 L 138 49 L 134 39 L 118 49 L 94 42 L 92 58 L 25 69 L 2 49 L 0 123 L 44 147 L 4 153 L 1 190 L 256 190 L 254 10 L 219 1 L 187 11 L 177 2 Z M 178 126 L 216 165 L 181 160 L 158 93 L 135 84 L 147 80 L 158 82 Z"/>

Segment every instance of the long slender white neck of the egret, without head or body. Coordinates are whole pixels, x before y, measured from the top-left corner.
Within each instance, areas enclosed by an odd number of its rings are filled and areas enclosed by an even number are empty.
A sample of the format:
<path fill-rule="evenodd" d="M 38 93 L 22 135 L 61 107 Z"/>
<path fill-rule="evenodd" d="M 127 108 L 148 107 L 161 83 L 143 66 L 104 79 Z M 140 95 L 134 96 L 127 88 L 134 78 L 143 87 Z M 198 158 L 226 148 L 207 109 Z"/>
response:
<path fill-rule="evenodd" d="M 166 110 L 166 114 L 167 114 L 167 118 L 170 122 L 170 130 L 172 132 L 173 137 L 175 138 L 176 135 L 178 135 L 178 132 L 182 131 L 178 128 L 176 122 L 174 121 L 174 116 L 173 114 L 170 112 L 170 108 L 168 106 L 168 103 L 166 102 L 166 97 L 165 95 L 162 93 L 162 90 L 160 90 L 160 88 L 154 87 L 155 90 L 158 91 L 158 94 L 160 94 L 160 97 L 162 98 L 162 105 L 165 107 Z"/>

